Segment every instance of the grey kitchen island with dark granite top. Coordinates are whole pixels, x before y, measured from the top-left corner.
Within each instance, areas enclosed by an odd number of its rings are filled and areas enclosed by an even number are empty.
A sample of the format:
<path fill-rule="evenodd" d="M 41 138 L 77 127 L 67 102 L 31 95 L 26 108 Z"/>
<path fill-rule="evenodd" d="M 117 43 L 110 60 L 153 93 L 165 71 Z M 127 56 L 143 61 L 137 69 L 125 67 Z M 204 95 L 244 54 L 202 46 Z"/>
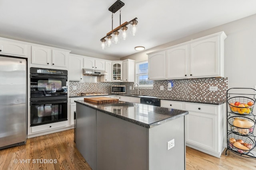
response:
<path fill-rule="evenodd" d="M 93 170 L 185 169 L 188 111 L 120 101 L 75 102 L 76 147 Z"/>

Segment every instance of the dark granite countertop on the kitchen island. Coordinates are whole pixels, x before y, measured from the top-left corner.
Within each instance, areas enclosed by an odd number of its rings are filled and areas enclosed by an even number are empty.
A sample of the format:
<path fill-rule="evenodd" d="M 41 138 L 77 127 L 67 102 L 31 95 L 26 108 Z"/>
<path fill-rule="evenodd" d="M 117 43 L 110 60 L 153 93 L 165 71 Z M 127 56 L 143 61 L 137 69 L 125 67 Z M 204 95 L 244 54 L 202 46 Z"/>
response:
<path fill-rule="evenodd" d="M 184 110 L 121 101 L 103 104 L 84 102 L 84 100 L 75 102 L 146 128 L 152 128 L 188 114 L 188 111 Z"/>

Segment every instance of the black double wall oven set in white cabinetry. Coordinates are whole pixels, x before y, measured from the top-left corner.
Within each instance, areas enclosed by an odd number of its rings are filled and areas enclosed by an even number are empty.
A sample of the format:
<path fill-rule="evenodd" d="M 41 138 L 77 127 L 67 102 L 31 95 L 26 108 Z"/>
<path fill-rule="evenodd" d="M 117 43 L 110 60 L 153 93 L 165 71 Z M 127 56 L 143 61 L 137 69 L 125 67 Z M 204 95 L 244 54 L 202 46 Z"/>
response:
<path fill-rule="evenodd" d="M 67 70 L 30 68 L 30 126 L 68 120 Z"/>

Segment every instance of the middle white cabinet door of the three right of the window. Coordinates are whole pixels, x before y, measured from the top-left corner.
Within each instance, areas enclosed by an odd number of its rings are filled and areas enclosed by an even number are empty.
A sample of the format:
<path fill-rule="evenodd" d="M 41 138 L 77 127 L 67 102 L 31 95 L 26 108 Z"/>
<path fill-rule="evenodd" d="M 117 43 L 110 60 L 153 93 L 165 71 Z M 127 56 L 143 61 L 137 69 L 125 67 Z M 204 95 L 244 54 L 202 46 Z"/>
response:
<path fill-rule="evenodd" d="M 188 45 L 166 51 L 166 78 L 188 77 Z"/>

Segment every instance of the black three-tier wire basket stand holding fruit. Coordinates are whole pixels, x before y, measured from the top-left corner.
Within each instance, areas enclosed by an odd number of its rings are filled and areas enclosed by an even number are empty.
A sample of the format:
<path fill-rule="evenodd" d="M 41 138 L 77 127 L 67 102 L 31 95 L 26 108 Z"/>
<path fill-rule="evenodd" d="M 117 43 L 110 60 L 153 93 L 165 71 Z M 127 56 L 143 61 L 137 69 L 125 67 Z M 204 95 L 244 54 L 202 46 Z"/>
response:
<path fill-rule="evenodd" d="M 230 150 L 240 156 L 256 159 L 256 155 L 251 152 L 256 147 L 256 137 L 254 136 L 256 119 L 253 113 L 255 97 L 256 90 L 253 88 L 230 88 L 226 92 L 226 156 Z M 236 123 L 239 123 L 238 125 L 235 125 L 235 120 Z M 245 147 L 241 147 L 237 142 Z M 233 146 L 234 143 L 236 146 L 238 144 L 238 147 Z"/>

